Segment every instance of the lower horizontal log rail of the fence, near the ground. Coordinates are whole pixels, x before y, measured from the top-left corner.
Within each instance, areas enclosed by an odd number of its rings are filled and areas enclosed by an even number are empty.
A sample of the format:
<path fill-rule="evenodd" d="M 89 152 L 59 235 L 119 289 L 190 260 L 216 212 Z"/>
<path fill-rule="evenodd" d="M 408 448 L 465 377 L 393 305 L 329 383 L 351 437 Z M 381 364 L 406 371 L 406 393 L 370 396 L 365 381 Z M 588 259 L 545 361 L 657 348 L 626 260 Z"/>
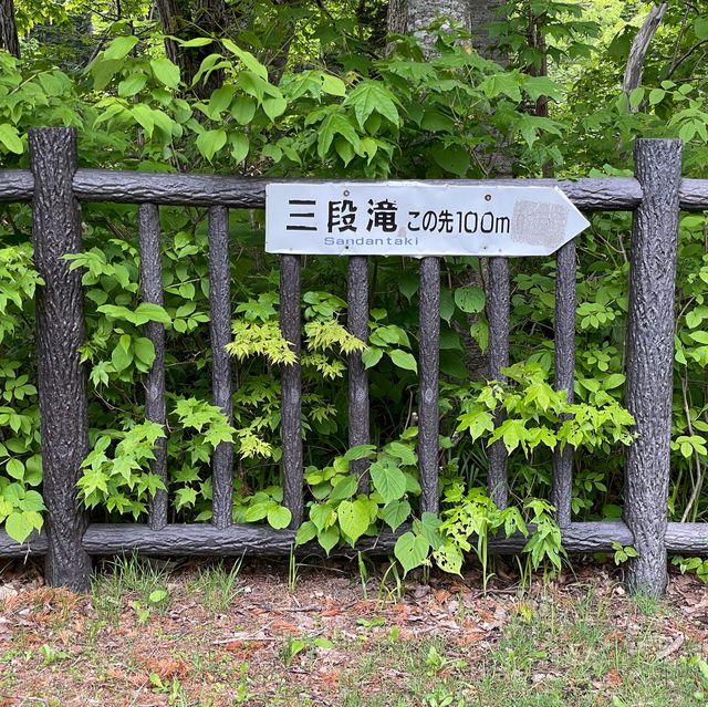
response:
<path fill-rule="evenodd" d="M 378 538 L 362 538 L 354 549 L 335 549 L 332 554 L 355 558 L 357 551 L 368 554 L 387 555 L 393 552 L 399 534 L 410 530 L 402 526 L 395 533 L 384 531 Z M 529 527 L 533 531 L 533 526 Z M 220 530 L 209 523 L 190 526 L 167 526 L 160 531 L 152 531 L 147 526 L 92 524 L 83 539 L 83 547 L 90 554 L 105 555 L 136 550 L 145 554 L 173 555 L 264 555 L 283 557 L 290 554 L 295 532 L 272 530 L 264 526 L 231 526 Z M 473 539 L 472 539 L 473 542 Z M 528 542 L 520 533 L 504 538 L 503 532 L 489 538 L 492 554 L 519 554 Z M 612 543 L 632 545 L 632 531 L 622 521 L 571 523 L 563 529 L 563 548 L 571 554 L 612 552 Z M 46 552 L 46 537 L 32 533 L 24 544 L 18 544 L 4 531 L 0 531 L 0 557 L 22 558 L 42 555 Z M 316 543 L 295 548 L 299 555 L 324 554 Z M 666 550 L 678 554 L 708 554 L 708 523 L 668 523 Z"/>

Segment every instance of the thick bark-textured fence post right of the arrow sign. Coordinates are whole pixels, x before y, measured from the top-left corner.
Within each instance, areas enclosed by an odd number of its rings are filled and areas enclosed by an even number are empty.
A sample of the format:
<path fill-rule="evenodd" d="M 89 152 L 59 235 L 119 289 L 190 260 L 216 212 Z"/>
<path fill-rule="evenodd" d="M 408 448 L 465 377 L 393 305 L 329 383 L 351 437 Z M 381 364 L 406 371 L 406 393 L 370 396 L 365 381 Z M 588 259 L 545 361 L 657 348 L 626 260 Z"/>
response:
<path fill-rule="evenodd" d="M 666 591 L 666 526 L 674 378 L 674 299 L 681 141 L 638 139 L 642 202 L 632 221 L 626 406 L 638 438 L 625 451 L 624 519 L 639 557 L 634 592 Z"/>

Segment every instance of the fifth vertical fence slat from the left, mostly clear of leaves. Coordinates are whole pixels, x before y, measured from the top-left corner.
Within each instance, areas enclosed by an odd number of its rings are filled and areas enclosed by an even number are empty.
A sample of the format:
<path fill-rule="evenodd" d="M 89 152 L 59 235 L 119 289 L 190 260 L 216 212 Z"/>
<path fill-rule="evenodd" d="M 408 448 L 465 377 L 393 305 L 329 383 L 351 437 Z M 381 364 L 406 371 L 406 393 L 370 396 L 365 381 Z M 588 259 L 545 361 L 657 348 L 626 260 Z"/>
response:
<path fill-rule="evenodd" d="M 420 261 L 420 361 L 418 365 L 418 472 L 420 512 L 437 513 L 438 492 L 440 371 L 440 260 Z"/>

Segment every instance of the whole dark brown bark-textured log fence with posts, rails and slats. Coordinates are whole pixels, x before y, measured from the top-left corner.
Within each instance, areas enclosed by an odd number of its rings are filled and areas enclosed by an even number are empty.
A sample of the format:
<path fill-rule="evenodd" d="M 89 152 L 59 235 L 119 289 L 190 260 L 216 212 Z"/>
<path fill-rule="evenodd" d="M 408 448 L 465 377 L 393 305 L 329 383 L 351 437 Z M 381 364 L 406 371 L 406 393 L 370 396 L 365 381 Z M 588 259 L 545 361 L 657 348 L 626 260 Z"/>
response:
<path fill-rule="evenodd" d="M 303 453 L 301 370 L 282 370 L 283 503 L 292 512 L 288 530 L 232 524 L 232 448 L 215 453 L 211 523 L 168 524 L 168 498 L 159 491 L 147 524 L 87 524 L 76 500 L 80 466 L 88 451 L 86 374 L 79 347 L 84 342 L 81 272 L 60 259 L 81 250 L 80 201 L 137 204 L 139 214 L 142 298 L 163 303 L 159 249 L 160 205 L 209 207 L 210 336 L 214 403 L 232 410 L 231 367 L 225 345 L 230 340 L 229 208 L 263 208 L 266 179 L 217 175 L 147 174 L 79 169 L 73 128 L 29 132 L 30 169 L 0 170 L 0 202 L 31 201 L 35 267 L 44 280 L 37 293 L 37 363 L 43 456 L 45 532 L 19 545 L 0 533 L 0 557 L 46 555 L 50 584 L 86 590 L 91 555 L 137 550 L 152 554 L 288 554 L 302 521 Z M 669 444 L 674 363 L 674 288 L 679 210 L 708 209 L 708 180 L 681 179 L 681 143 L 639 139 L 633 178 L 493 180 L 456 184 L 559 186 L 585 211 L 633 211 L 627 381 L 625 405 L 639 434 L 625 455 L 625 508 L 621 522 L 571 522 L 572 450 L 553 460 L 552 501 L 569 552 L 611 550 L 613 541 L 634 545 L 639 557 L 629 566 L 635 590 L 662 594 L 666 588 L 666 552 L 706 553 L 708 526 L 667 523 Z M 301 180 L 306 188 L 308 180 Z M 582 236 L 580 236 L 582 238 Z M 281 330 L 300 353 L 300 257 L 282 256 Z M 420 260 L 420 357 L 418 458 L 421 510 L 436 512 L 438 496 L 438 356 L 439 259 Z M 501 380 L 509 364 L 509 268 L 490 258 L 487 312 L 490 376 Z M 573 395 L 575 360 L 575 241 L 558 252 L 555 313 L 555 388 Z M 367 335 L 367 267 L 365 257 L 348 261 L 350 331 Z M 164 327 L 146 325 L 155 362 L 145 381 L 145 415 L 165 424 Z M 361 354 L 350 358 L 350 444 L 368 443 L 368 386 Z M 365 464 L 365 461 L 360 462 Z M 356 465 L 354 465 L 356 466 Z M 354 469 L 361 471 L 360 467 Z M 166 448 L 156 449 L 154 471 L 166 479 Z M 489 489 L 499 507 L 507 505 L 507 455 L 501 441 L 489 449 Z M 362 487 L 361 490 L 366 490 Z M 398 532 L 404 532 L 402 528 Z M 362 539 L 356 550 L 389 553 L 397 534 L 384 531 Z M 490 538 L 490 552 L 517 553 L 521 536 Z M 322 553 L 310 543 L 303 552 Z"/>

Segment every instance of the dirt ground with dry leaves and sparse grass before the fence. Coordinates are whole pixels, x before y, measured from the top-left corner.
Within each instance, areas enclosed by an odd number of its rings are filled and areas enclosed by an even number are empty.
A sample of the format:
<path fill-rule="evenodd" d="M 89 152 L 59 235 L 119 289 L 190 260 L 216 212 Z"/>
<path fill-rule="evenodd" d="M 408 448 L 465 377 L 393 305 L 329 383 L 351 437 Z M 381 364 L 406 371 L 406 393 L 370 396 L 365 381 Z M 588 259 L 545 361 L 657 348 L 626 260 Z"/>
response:
<path fill-rule="evenodd" d="M 356 562 L 244 560 L 231 571 L 133 559 L 98 568 L 93 593 L 75 595 L 45 586 L 40 565 L 0 564 L 0 706 L 493 705 L 479 682 L 491 655 L 502 678 L 509 669 L 510 680 L 548 684 L 561 677 L 552 653 L 570 649 L 579 622 L 602 623 L 597 645 L 615 647 L 602 654 L 598 679 L 577 678 L 583 697 L 559 704 L 624 706 L 612 692 L 623 679 L 612 667 L 620 643 L 649 646 L 652 665 L 705 657 L 708 646 L 706 584 L 675 571 L 667 599 L 642 605 L 607 564 L 575 563 L 521 586 L 502 562 L 486 596 L 475 568 L 427 584 L 409 576 L 404 588 L 386 564 L 365 566 L 362 578 Z M 514 625 L 553 632 L 562 621 L 566 646 L 514 647 L 521 634 L 510 643 Z M 440 685 L 449 701 L 435 696 Z"/>

